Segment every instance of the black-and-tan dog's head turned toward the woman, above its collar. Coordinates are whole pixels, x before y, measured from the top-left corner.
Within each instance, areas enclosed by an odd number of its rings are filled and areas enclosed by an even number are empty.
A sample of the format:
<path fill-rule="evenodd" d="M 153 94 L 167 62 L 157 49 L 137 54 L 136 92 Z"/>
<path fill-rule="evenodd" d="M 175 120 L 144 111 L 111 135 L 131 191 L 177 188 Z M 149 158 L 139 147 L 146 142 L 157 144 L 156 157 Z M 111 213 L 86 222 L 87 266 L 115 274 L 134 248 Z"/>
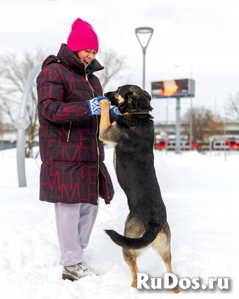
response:
<path fill-rule="evenodd" d="M 150 106 L 150 95 L 136 85 L 120 86 L 116 91 L 105 93 L 105 96 L 110 99 L 112 105 L 119 108 L 121 113 L 149 112 L 153 109 Z"/>

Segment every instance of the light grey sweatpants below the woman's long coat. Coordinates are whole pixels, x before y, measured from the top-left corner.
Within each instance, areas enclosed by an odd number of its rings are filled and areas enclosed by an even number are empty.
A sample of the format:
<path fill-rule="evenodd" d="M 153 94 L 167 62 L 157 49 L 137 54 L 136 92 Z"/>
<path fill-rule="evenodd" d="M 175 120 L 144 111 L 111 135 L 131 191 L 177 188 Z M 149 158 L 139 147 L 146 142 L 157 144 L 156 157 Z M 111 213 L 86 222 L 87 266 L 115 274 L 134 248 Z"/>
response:
<path fill-rule="evenodd" d="M 76 265 L 83 260 L 99 209 L 90 203 L 55 203 L 56 227 L 63 266 Z"/>

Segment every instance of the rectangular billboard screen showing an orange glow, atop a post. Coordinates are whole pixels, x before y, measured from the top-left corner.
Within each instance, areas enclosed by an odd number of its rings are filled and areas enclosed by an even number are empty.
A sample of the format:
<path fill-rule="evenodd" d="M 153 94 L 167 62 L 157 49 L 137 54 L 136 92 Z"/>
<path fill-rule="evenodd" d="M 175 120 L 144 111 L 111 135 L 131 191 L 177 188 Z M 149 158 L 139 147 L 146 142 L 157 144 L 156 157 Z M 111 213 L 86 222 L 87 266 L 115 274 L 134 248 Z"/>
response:
<path fill-rule="evenodd" d="M 195 81 L 192 79 L 152 82 L 152 98 L 182 98 L 195 96 Z"/>

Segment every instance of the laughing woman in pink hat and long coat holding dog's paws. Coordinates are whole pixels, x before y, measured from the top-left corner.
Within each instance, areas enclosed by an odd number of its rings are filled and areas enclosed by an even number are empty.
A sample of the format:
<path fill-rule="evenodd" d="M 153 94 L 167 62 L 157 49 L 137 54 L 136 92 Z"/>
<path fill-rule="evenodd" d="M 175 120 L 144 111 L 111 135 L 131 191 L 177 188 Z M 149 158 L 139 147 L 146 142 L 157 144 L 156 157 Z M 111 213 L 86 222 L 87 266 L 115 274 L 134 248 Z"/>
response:
<path fill-rule="evenodd" d="M 55 204 L 62 278 L 72 281 L 94 274 L 82 262 L 83 251 L 99 197 L 109 204 L 114 195 L 99 140 L 99 101 L 105 97 L 93 74 L 104 68 L 95 59 L 98 47 L 92 26 L 78 18 L 67 44 L 45 59 L 37 77 L 40 200 Z M 113 121 L 119 111 L 111 112 Z"/>

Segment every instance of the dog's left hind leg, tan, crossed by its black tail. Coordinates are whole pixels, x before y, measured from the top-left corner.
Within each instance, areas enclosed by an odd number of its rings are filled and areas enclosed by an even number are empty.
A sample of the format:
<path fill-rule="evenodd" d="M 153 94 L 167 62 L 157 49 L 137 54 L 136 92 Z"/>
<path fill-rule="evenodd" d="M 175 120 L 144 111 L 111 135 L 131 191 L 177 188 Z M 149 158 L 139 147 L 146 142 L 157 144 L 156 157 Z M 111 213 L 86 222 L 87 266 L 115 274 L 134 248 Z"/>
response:
<path fill-rule="evenodd" d="M 127 216 L 124 227 L 124 236 L 129 238 L 140 238 L 142 237 L 144 230 L 145 228 L 140 221 L 132 217 L 130 214 Z M 137 287 L 137 273 L 139 272 L 137 266 L 137 257 L 141 254 L 141 252 L 141 249 L 132 250 L 123 248 L 123 258 L 132 274 L 131 287 L 133 288 Z"/>

